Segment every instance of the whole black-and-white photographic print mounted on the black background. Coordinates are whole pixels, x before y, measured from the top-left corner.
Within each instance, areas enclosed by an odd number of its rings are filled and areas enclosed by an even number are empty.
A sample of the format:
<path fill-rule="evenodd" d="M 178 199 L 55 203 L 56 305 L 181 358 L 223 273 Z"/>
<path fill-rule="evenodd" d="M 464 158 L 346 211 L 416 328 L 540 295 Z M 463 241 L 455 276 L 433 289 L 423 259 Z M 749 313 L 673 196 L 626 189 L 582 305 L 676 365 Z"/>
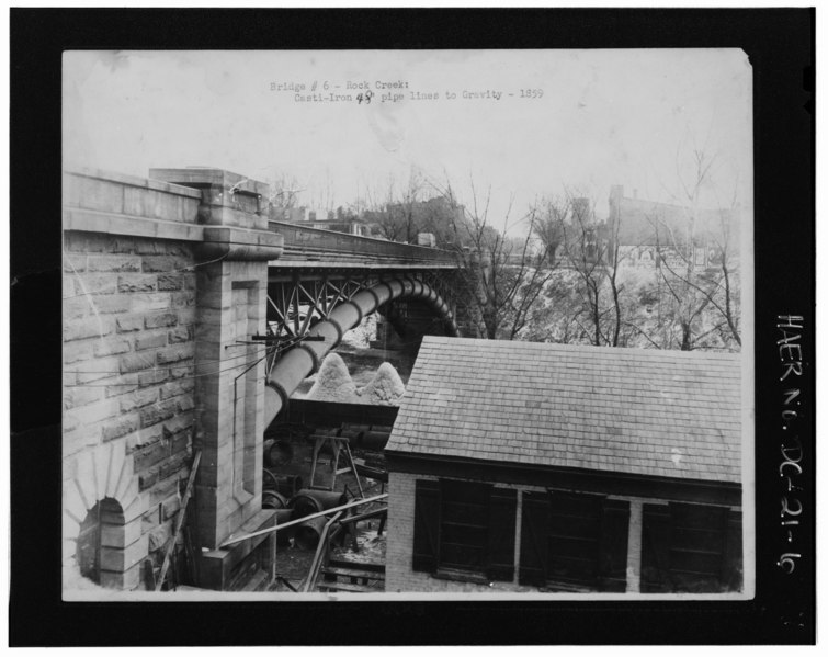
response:
<path fill-rule="evenodd" d="M 751 596 L 750 73 L 65 53 L 66 598 Z"/>

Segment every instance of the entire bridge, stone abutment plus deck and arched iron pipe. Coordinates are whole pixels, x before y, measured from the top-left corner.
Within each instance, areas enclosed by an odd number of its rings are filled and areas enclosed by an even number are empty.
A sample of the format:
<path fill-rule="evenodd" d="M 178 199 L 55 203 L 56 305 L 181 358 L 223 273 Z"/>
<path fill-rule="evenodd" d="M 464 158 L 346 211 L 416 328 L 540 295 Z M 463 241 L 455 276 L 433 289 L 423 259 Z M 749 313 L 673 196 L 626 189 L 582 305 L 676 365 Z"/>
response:
<path fill-rule="evenodd" d="M 456 261 L 269 222 L 268 186 L 222 170 L 67 171 L 63 189 L 65 586 L 148 586 L 199 451 L 199 584 L 239 588 L 265 536 L 218 546 L 274 521 L 266 426 L 370 313 L 457 335 Z"/>

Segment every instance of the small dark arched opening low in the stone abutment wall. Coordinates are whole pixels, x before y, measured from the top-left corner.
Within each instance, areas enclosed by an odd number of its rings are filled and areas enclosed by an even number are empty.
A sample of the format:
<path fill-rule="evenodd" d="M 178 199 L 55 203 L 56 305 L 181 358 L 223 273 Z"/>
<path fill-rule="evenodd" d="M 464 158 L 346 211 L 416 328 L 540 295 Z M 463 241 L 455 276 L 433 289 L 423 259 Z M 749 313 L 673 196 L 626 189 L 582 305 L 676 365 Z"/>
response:
<path fill-rule="evenodd" d="M 80 574 L 97 585 L 105 586 L 102 573 L 112 568 L 112 552 L 123 544 L 124 512 L 117 500 L 107 497 L 88 512 L 80 524 L 76 559 Z"/>

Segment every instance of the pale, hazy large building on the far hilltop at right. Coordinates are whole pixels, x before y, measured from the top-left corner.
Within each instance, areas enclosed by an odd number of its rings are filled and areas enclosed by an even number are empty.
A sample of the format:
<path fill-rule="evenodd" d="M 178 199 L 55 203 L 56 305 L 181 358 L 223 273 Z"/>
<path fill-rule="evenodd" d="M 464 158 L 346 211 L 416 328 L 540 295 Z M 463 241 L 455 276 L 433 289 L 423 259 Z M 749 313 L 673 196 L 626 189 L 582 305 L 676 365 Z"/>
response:
<path fill-rule="evenodd" d="M 700 208 L 693 215 L 688 206 L 638 199 L 635 190 L 632 197 L 625 196 L 623 185 L 613 185 L 608 234 L 612 240 L 617 226 L 619 253 L 629 264 L 657 265 L 659 251 L 660 258 L 673 258 L 674 264 L 681 264 L 683 259 L 676 250 L 690 253 L 692 241 L 693 265 L 716 268 L 722 263 L 723 223 L 730 231 L 731 254 L 737 251 L 739 215 L 738 206 L 734 209 Z M 611 243 L 611 252 L 612 247 Z"/>

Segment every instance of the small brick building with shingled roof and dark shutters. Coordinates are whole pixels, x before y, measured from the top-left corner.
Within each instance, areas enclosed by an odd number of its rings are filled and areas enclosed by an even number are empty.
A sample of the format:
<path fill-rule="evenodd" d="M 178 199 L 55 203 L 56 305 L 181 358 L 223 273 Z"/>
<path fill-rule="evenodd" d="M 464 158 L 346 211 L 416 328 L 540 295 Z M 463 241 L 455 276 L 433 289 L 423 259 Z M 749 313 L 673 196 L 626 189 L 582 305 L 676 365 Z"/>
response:
<path fill-rule="evenodd" d="M 386 591 L 742 588 L 740 356 L 426 337 Z"/>

